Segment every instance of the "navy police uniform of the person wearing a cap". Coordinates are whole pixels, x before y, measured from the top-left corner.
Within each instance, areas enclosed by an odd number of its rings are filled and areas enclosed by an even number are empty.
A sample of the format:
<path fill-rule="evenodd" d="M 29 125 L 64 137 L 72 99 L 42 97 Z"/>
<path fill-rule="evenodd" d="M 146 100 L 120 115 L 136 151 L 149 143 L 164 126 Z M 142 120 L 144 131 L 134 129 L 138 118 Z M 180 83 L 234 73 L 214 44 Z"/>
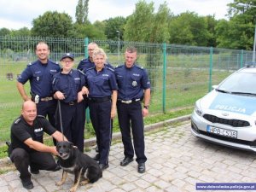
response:
<path fill-rule="evenodd" d="M 85 110 L 83 102 L 78 102 L 78 93 L 85 84 L 84 78 L 83 72 L 72 69 L 67 74 L 55 74 L 52 82 L 54 93 L 61 91 L 65 96 L 65 99 L 60 101 L 61 119 L 59 108 L 55 114 L 57 130 L 61 131 L 62 120 L 63 134 L 81 152 L 84 152 Z"/>

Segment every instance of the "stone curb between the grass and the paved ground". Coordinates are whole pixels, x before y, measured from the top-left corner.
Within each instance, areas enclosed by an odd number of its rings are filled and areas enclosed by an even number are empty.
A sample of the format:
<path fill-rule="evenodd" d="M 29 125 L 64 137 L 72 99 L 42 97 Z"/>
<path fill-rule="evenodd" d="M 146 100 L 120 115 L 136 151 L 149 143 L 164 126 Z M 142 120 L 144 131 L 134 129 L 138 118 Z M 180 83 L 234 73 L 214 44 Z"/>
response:
<path fill-rule="evenodd" d="M 171 124 L 171 123 L 177 123 L 177 122 L 182 122 L 182 121 L 186 121 L 190 119 L 190 114 L 189 115 L 185 115 L 182 117 L 178 117 L 178 118 L 174 118 L 174 119 L 168 119 L 165 121 L 161 121 L 155 124 L 151 124 L 151 125 L 145 125 L 144 127 L 144 131 L 154 131 L 157 130 L 165 125 Z M 114 132 L 112 135 L 112 140 L 118 140 L 121 139 L 121 133 L 120 132 Z M 84 147 L 85 146 L 93 146 L 96 145 L 96 137 L 92 137 L 90 139 L 84 139 Z M 9 157 L 5 157 L 3 159 L 0 159 L 0 166 L 6 163 L 11 163 L 11 160 L 9 159 Z"/>

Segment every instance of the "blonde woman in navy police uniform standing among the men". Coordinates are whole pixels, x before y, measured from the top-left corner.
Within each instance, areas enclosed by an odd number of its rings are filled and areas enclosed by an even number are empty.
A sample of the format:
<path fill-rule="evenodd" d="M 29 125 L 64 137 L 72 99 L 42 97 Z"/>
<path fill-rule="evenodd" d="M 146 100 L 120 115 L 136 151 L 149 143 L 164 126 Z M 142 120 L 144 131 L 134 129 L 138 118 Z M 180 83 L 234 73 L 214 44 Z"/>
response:
<path fill-rule="evenodd" d="M 86 71 L 86 85 L 89 90 L 90 119 L 96 132 L 99 166 L 108 168 L 108 154 L 112 138 L 112 119 L 116 115 L 117 84 L 113 69 L 107 67 L 107 55 L 103 49 L 94 49 L 95 67 Z"/>

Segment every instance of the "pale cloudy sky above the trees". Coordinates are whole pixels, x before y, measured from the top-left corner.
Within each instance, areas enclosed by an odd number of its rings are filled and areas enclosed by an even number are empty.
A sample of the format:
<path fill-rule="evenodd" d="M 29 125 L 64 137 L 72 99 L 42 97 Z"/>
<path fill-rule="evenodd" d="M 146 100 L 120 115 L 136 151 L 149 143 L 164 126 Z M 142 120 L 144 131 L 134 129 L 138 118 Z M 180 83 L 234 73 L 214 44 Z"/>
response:
<path fill-rule="evenodd" d="M 96 20 L 108 20 L 117 16 L 132 15 L 139 0 L 90 0 L 88 19 L 91 23 Z M 154 2 L 154 10 L 165 0 L 146 0 Z M 195 12 L 200 16 L 215 15 L 217 20 L 227 19 L 228 3 L 234 0 L 166 0 L 174 15 L 186 11 Z M 46 11 L 67 13 L 75 21 L 75 10 L 78 0 L 0 0 L 0 28 L 20 29 L 32 28 L 32 20 L 44 15 Z"/>

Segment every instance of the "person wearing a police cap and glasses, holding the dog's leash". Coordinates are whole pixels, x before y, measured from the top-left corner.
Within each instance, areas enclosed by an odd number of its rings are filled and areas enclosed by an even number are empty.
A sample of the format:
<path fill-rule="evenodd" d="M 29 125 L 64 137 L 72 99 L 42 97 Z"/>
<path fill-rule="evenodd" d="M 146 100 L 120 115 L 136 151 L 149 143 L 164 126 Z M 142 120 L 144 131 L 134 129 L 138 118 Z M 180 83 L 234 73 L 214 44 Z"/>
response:
<path fill-rule="evenodd" d="M 84 152 L 84 73 L 73 69 L 74 55 L 67 53 L 61 56 L 61 72 L 54 75 L 52 82 L 54 97 L 60 100 L 61 112 L 56 110 L 56 127 L 63 125 L 63 133 L 68 141 Z M 60 118 L 61 115 L 61 118 Z M 61 122 L 62 121 L 62 122 Z"/>

